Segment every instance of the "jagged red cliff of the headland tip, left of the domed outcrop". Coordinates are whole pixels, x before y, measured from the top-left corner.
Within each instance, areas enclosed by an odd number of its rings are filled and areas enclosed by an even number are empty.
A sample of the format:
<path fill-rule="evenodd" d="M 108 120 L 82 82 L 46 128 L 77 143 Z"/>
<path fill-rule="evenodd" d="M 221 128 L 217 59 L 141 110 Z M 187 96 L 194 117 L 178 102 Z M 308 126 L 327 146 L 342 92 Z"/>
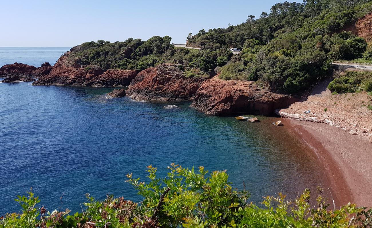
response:
<path fill-rule="evenodd" d="M 70 52 L 58 59 L 48 75 L 41 76 L 32 85 L 64 86 L 128 86 L 137 70 L 103 70 L 98 66 L 81 67 L 68 61 Z"/>

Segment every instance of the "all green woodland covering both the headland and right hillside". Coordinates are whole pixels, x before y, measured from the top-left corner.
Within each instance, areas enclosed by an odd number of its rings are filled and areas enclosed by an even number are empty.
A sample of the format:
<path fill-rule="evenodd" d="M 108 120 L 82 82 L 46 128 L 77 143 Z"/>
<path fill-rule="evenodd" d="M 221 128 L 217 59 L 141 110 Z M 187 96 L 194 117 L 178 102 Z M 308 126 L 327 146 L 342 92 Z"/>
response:
<path fill-rule="evenodd" d="M 190 46 L 177 48 L 169 36 L 147 41 L 128 39 L 110 43 L 88 42 L 73 48 L 72 64 L 102 69 L 138 69 L 159 63 L 177 63 L 206 73 L 221 73 L 222 79 L 261 81 L 272 90 L 296 93 L 328 75 L 332 60 L 372 60 L 372 47 L 347 25 L 372 11 L 367 0 L 318 0 L 278 3 L 259 19 L 227 28 L 200 30 L 187 36 Z M 238 55 L 230 47 L 242 50 Z"/>

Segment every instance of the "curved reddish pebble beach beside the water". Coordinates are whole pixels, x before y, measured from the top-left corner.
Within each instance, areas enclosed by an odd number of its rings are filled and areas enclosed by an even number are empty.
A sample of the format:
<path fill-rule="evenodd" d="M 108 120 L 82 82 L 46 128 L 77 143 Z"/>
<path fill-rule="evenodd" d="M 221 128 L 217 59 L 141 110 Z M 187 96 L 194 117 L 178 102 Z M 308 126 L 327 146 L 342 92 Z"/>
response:
<path fill-rule="evenodd" d="M 282 121 L 314 150 L 336 204 L 372 206 L 372 144 L 366 137 L 325 123 Z"/>

